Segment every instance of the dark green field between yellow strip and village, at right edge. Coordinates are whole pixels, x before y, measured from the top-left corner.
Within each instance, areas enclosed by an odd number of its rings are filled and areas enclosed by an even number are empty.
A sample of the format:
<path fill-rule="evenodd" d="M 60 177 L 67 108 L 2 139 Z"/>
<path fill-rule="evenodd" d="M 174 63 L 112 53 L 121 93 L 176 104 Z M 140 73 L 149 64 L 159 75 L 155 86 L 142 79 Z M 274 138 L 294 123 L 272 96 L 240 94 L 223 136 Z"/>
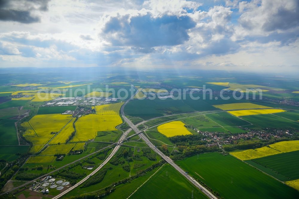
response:
<path fill-rule="evenodd" d="M 264 115 L 248 115 L 242 116 L 242 119 L 252 123 L 254 126 L 250 128 L 294 128 L 299 129 L 299 123 L 293 122 L 291 120 L 278 117 L 273 114 L 264 114 Z"/>

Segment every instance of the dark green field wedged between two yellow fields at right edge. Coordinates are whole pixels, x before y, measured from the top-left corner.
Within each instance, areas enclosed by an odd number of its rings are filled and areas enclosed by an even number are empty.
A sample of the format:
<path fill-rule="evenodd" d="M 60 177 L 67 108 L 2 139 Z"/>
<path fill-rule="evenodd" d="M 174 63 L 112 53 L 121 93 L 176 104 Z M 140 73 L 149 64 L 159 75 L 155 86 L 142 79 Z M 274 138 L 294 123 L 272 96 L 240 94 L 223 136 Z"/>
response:
<path fill-rule="evenodd" d="M 299 179 L 299 151 L 261 157 L 246 162 L 278 180 L 289 181 Z"/>

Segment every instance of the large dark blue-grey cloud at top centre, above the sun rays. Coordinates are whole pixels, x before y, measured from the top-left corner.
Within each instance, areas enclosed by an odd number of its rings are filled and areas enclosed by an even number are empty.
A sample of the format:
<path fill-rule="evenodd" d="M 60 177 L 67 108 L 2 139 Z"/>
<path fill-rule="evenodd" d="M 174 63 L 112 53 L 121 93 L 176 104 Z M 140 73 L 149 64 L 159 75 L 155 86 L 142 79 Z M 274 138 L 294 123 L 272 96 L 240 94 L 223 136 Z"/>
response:
<path fill-rule="evenodd" d="M 189 16 L 118 15 L 106 22 L 101 37 L 112 45 L 137 48 L 179 45 L 189 39 L 188 30 L 195 25 Z"/>

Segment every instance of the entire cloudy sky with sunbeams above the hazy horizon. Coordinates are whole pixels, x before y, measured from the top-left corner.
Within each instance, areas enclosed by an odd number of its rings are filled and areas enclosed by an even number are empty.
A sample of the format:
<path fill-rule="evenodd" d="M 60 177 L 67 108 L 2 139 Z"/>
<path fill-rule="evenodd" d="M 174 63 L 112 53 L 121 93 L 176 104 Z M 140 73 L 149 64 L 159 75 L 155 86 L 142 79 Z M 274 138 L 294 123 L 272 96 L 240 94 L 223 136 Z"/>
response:
<path fill-rule="evenodd" d="M 0 67 L 299 71 L 299 0 L 0 0 Z"/>

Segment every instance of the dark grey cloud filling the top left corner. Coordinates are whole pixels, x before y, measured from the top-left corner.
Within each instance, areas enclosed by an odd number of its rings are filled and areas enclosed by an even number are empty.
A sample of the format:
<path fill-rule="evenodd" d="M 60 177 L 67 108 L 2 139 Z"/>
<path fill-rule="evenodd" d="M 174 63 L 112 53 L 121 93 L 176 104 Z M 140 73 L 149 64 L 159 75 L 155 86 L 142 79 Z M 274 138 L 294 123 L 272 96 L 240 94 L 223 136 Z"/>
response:
<path fill-rule="evenodd" d="M 47 11 L 49 0 L 1 0 L 0 20 L 20 23 L 40 22 L 35 11 Z"/>

